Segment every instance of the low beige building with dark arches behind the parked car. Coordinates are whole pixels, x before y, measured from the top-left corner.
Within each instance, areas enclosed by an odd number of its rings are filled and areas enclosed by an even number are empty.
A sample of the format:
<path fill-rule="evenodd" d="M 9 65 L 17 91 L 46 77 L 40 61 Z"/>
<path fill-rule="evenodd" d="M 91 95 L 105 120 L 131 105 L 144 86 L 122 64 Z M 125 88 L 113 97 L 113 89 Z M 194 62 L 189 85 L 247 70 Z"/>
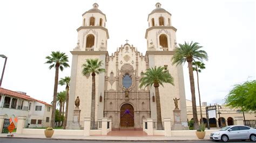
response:
<path fill-rule="evenodd" d="M 192 112 L 192 102 L 190 100 L 186 100 L 186 105 L 187 105 L 187 120 L 193 119 L 193 112 Z M 203 113 L 203 120 L 206 122 L 206 103 L 201 104 L 201 109 Z M 219 127 L 220 122 L 222 122 L 222 126 L 227 126 L 227 125 L 233 125 L 235 118 L 240 117 L 244 118 L 243 113 L 240 109 L 231 109 L 228 106 L 225 105 L 219 105 L 214 104 L 217 106 L 217 118 L 210 118 L 210 127 Z M 219 113 L 220 112 L 220 113 Z M 200 106 L 197 106 L 197 115 L 198 119 L 200 119 Z M 255 112 L 244 112 L 245 119 L 246 120 L 255 120 L 256 119 L 256 113 Z"/>

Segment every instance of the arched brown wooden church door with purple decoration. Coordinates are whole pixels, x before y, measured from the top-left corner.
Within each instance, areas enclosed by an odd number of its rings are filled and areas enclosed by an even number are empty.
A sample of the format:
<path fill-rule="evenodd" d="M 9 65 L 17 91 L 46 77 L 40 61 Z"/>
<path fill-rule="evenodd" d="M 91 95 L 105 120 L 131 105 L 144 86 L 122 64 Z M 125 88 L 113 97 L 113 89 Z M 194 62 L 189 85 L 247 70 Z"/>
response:
<path fill-rule="evenodd" d="M 120 127 L 134 128 L 134 109 L 131 104 L 124 104 L 120 109 Z"/>

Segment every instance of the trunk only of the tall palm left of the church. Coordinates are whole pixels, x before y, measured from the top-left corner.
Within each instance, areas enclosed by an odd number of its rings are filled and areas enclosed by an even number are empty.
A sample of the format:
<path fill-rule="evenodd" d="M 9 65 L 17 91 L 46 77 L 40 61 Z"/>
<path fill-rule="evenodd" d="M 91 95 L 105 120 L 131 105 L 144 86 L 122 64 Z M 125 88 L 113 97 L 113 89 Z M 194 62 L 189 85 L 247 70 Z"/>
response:
<path fill-rule="evenodd" d="M 58 90 L 58 77 L 59 77 L 59 65 L 56 63 L 55 67 L 55 83 L 54 83 L 54 90 L 53 90 L 53 103 L 52 103 L 52 112 L 51 112 L 51 119 L 52 119 L 52 127 L 55 127 L 55 112 L 56 112 L 56 98 L 57 98 L 57 90 Z"/>

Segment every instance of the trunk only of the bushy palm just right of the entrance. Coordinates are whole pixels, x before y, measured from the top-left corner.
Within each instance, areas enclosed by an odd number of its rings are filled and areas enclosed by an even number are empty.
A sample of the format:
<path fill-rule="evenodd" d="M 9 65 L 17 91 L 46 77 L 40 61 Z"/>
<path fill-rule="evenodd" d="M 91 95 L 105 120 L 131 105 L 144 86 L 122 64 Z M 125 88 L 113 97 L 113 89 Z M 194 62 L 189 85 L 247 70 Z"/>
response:
<path fill-rule="evenodd" d="M 159 96 L 159 84 L 154 84 L 154 91 L 156 92 L 156 104 L 157 104 L 157 130 L 163 130 L 162 117 L 161 117 L 161 104 Z"/>

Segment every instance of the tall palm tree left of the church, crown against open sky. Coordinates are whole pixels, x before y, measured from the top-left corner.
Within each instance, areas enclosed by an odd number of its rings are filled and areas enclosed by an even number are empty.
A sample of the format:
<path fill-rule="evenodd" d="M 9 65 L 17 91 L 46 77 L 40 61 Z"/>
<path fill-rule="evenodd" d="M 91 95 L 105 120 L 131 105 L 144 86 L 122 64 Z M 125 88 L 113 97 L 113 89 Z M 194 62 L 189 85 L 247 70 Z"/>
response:
<path fill-rule="evenodd" d="M 64 68 L 69 67 L 69 58 L 65 53 L 57 52 L 51 52 L 50 56 L 46 56 L 45 63 L 49 63 L 50 67 L 49 69 L 55 67 L 55 83 L 54 83 L 54 90 L 53 90 L 53 104 L 52 104 L 52 113 L 51 118 L 52 120 L 55 120 L 55 110 L 56 110 L 56 97 L 57 97 L 57 90 L 58 90 L 58 76 L 59 76 L 59 69 L 63 71 Z M 54 127 L 54 121 L 52 123 L 52 127 Z"/>

